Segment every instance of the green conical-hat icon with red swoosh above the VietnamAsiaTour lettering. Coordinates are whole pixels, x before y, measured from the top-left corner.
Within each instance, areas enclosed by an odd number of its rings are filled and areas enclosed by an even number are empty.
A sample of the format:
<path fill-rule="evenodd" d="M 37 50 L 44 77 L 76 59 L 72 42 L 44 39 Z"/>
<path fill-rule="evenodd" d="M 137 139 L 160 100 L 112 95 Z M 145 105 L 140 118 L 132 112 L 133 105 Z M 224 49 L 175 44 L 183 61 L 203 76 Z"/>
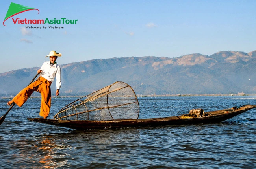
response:
<path fill-rule="evenodd" d="M 28 7 L 28 6 L 24 6 L 24 5 L 20 5 L 20 4 L 15 4 L 15 3 L 11 2 L 10 6 L 9 6 L 9 9 L 8 9 L 8 11 L 6 13 L 6 17 L 4 18 L 4 22 L 7 19 L 9 19 L 9 18 L 11 18 L 11 17 L 13 17 L 13 16 L 15 16 L 15 15 L 17 15 L 19 13 L 30 11 L 30 10 L 37 10 L 38 13 L 39 13 L 38 9 L 35 9 L 35 8 L 32 8 L 32 7 Z M 4 22 L 3 22 L 3 25 L 6 26 L 4 24 Z"/>

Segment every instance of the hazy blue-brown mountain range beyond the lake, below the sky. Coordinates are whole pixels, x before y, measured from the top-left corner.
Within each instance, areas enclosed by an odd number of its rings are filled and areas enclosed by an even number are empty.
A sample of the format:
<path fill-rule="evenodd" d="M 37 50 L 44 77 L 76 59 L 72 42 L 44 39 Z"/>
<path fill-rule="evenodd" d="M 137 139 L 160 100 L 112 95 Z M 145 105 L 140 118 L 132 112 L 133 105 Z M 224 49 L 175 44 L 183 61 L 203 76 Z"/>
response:
<path fill-rule="evenodd" d="M 213 55 L 121 57 L 63 64 L 61 95 L 85 95 L 115 81 L 136 94 L 256 94 L 256 51 Z M 17 94 L 38 68 L 0 73 L 0 96 Z M 55 90 L 55 82 L 52 90 Z"/>

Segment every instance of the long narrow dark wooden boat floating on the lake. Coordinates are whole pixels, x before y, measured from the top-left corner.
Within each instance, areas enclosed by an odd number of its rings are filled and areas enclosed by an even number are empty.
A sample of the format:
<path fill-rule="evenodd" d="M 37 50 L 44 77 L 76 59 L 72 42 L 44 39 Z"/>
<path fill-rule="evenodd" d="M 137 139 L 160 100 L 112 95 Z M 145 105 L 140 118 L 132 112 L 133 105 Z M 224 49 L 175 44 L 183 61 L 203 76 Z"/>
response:
<path fill-rule="evenodd" d="M 191 125 L 201 123 L 219 123 L 226 119 L 230 119 L 243 112 L 246 112 L 256 105 L 243 105 L 239 108 L 232 107 L 223 110 L 205 112 L 203 117 L 195 117 L 190 115 L 171 116 L 164 118 L 150 119 L 121 119 L 106 121 L 89 121 L 89 120 L 57 120 L 43 118 L 28 118 L 30 121 L 67 127 L 76 130 L 88 129 L 115 129 L 124 127 L 146 127 L 146 126 L 164 126 L 164 125 Z"/>

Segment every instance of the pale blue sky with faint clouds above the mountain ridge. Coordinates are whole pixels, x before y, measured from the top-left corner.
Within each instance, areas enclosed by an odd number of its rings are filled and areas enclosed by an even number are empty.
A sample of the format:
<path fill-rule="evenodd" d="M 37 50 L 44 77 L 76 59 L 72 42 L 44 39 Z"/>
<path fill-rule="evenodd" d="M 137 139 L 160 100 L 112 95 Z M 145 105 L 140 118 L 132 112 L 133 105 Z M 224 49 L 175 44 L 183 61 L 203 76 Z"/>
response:
<path fill-rule="evenodd" d="M 3 0 L 2 22 L 11 2 L 40 11 L 20 13 L 15 19 L 78 22 L 51 24 L 64 29 L 26 29 L 31 24 L 6 20 L 6 26 L 0 26 L 0 73 L 40 67 L 51 50 L 62 53 L 58 64 L 256 50 L 255 0 Z"/>

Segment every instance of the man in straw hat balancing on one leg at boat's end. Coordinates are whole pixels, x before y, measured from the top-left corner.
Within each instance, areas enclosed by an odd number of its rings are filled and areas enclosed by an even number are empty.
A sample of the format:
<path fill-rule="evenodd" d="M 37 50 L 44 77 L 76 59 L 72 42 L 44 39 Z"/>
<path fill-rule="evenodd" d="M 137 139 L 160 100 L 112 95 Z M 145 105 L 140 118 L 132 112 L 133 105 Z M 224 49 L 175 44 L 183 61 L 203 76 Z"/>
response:
<path fill-rule="evenodd" d="M 59 89 L 61 87 L 61 69 L 57 64 L 56 60 L 58 56 L 61 56 L 61 53 L 57 53 L 56 51 L 50 51 L 49 55 L 46 57 L 50 57 L 50 61 L 44 62 L 43 65 L 37 73 L 40 74 L 40 77 L 31 83 L 28 87 L 21 90 L 11 101 L 7 103 L 7 105 L 11 105 L 16 103 L 19 107 L 28 100 L 28 97 L 34 91 L 41 93 L 41 108 L 39 115 L 43 118 L 47 118 L 50 113 L 51 107 L 51 84 L 56 77 L 56 96 L 59 95 Z"/>

